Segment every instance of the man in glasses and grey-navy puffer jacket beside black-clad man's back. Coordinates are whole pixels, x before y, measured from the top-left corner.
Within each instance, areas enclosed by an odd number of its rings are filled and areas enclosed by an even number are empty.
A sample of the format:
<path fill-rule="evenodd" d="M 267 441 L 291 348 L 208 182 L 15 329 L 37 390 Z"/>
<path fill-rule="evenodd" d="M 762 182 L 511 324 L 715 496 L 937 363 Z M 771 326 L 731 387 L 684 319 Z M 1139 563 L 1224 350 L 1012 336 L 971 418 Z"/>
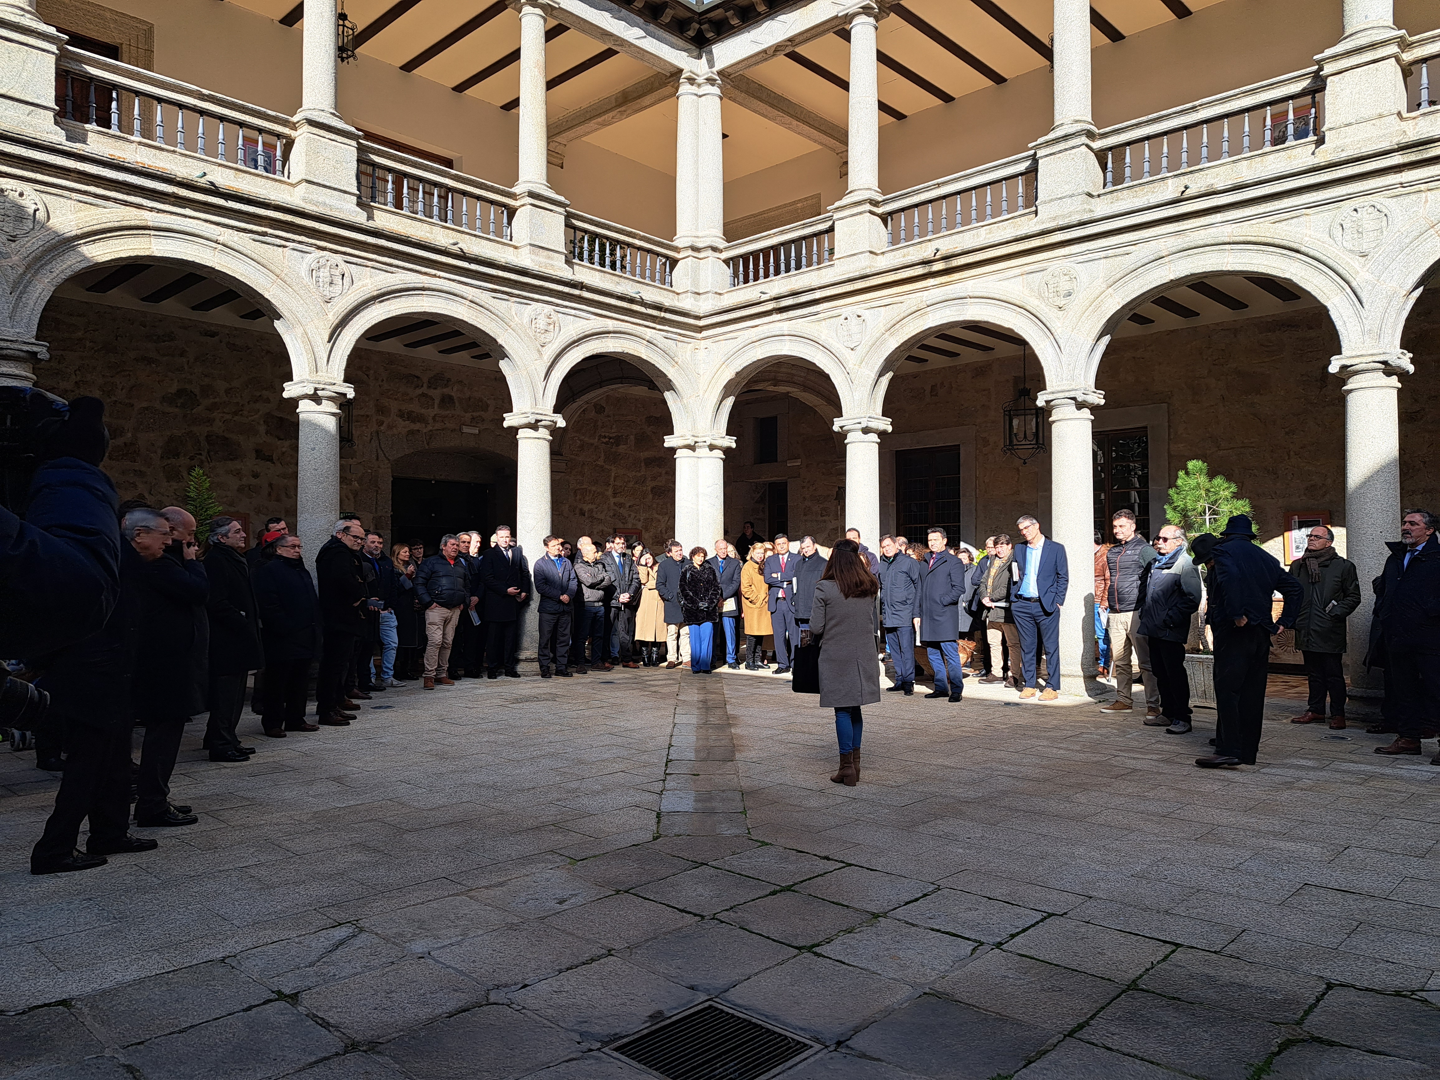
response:
<path fill-rule="evenodd" d="M 1155 550 L 1159 554 L 1140 569 L 1135 622 L 1149 648 L 1161 716 L 1171 721 L 1165 730 L 1187 734 L 1191 710 L 1185 642 L 1189 616 L 1200 611 L 1200 570 L 1185 553 L 1185 531 L 1179 526 L 1161 528 Z"/>

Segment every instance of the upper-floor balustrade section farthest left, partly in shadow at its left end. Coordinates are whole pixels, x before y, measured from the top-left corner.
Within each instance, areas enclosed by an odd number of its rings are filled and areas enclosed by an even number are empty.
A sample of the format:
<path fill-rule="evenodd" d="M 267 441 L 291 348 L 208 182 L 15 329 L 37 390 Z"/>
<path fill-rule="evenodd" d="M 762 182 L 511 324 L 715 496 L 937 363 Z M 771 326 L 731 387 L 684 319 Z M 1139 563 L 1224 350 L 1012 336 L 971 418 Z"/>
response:
<path fill-rule="evenodd" d="M 285 176 L 289 118 L 102 56 L 62 49 L 55 72 L 60 120 Z"/>

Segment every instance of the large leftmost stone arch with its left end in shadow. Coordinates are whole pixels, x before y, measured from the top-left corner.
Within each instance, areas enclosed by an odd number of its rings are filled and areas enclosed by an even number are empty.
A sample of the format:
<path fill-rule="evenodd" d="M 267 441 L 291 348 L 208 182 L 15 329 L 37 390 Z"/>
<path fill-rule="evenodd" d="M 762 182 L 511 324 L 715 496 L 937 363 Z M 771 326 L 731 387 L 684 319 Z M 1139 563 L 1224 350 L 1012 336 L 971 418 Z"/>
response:
<path fill-rule="evenodd" d="M 307 380 L 323 372 L 324 350 L 315 325 L 324 321 L 324 305 L 318 297 L 302 292 L 282 265 L 256 259 L 232 235 L 202 233 L 166 220 L 121 225 L 96 220 L 30 239 L 7 275 L 9 298 L 0 325 L 19 337 L 33 338 L 56 288 L 76 274 L 125 262 L 204 271 L 253 298 L 274 320 L 294 379 Z"/>

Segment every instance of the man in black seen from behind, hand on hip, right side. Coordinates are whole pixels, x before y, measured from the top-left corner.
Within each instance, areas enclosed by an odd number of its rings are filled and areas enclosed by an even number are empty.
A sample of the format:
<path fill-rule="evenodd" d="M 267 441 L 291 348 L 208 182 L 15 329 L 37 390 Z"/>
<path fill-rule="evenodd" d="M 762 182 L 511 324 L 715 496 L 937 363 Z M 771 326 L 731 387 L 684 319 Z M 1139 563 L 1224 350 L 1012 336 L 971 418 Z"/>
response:
<path fill-rule="evenodd" d="M 1254 526 L 1244 514 L 1225 523 L 1220 537 L 1195 537 L 1197 563 L 1210 566 L 1205 621 L 1215 635 L 1215 752 L 1197 757 L 1202 769 L 1254 765 L 1264 719 L 1264 685 L 1270 665 L 1270 598 L 1284 598 L 1279 628 L 1295 625 L 1303 595 L 1279 560 L 1257 547 Z"/>

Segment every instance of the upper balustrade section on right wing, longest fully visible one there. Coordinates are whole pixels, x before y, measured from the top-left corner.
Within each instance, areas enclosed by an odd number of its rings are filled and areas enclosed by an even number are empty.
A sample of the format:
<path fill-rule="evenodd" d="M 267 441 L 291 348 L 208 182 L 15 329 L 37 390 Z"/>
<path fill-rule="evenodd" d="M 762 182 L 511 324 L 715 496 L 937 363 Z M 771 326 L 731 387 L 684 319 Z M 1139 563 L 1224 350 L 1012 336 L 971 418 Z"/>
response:
<path fill-rule="evenodd" d="M 1097 153 L 1104 186 L 1123 187 L 1270 147 L 1319 143 L 1323 108 L 1325 84 L 1305 72 L 1102 131 Z"/>

